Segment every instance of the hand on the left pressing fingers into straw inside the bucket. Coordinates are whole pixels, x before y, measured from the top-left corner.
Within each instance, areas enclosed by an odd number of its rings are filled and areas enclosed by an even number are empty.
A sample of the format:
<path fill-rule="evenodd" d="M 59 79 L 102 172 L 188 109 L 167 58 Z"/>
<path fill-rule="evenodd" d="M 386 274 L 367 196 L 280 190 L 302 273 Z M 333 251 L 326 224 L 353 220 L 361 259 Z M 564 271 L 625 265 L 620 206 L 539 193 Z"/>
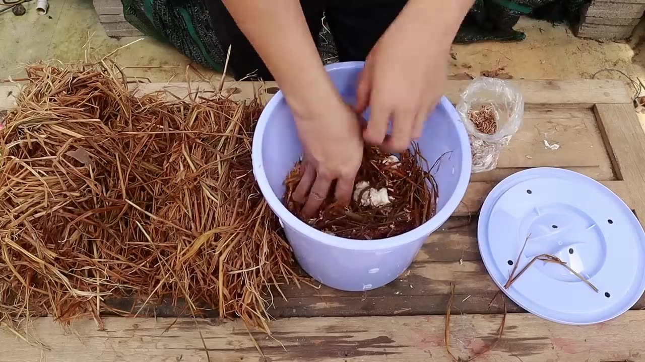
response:
<path fill-rule="evenodd" d="M 337 100 L 330 107 L 297 115 L 296 124 L 304 155 L 303 178 L 293 200 L 304 204 L 303 216 L 315 216 L 334 181 L 336 202 L 349 204 L 363 155 L 359 115 Z"/>

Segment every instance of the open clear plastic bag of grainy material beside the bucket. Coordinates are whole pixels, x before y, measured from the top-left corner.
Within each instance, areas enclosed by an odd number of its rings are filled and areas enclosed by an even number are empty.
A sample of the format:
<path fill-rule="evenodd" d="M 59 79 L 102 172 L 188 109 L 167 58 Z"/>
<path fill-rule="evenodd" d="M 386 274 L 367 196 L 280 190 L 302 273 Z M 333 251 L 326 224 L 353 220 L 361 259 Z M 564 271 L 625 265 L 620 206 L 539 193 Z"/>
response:
<path fill-rule="evenodd" d="M 457 111 L 470 138 L 472 172 L 494 169 L 499 153 L 522 125 L 522 93 L 501 79 L 478 77 L 461 94 Z M 475 127 L 471 117 L 479 119 L 479 115 L 482 115 L 481 118 L 486 119 L 484 116 L 490 116 L 490 113 L 494 114 L 495 126 L 486 127 L 484 133 Z M 486 125 L 488 126 L 488 123 Z"/>

